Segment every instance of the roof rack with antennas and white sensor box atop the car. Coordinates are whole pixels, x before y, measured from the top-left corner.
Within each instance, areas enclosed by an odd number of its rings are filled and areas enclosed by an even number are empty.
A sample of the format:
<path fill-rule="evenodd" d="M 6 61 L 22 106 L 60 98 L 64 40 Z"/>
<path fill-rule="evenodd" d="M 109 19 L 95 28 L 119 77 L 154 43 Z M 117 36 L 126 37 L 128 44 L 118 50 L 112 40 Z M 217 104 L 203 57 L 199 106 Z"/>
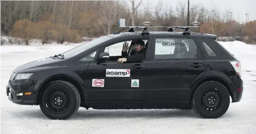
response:
<path fill-rule="evenodd" d="M 200 24 L 200 22 L 192 22 L 191 26 L 153 26 L 151 25 L 151 22 L 143 22 L 142 24 L 146 25 L 146 26 L 125 26 L 125 19 L 119 19 L 119 27 L 125 27 L 122 30 L 125 30 L 127 28 L 129 28 L 128 32 L 135 32 L 134 28 L 140 30 L 143 29 L 141 35 L 149 35 L 149 31 L 147 30 L 148 27 L 168 27 L 167 32 L 173 32 L 173 29 L 184 29 L 183 31 L 183 35 L 190 35 L 190 31 L 189 29 L 191 27 L 198 27 L 197 25 Z M 114 32 L 113 34 L 119 34 L 122 30 L 119 30 L 118 32 Z"/>

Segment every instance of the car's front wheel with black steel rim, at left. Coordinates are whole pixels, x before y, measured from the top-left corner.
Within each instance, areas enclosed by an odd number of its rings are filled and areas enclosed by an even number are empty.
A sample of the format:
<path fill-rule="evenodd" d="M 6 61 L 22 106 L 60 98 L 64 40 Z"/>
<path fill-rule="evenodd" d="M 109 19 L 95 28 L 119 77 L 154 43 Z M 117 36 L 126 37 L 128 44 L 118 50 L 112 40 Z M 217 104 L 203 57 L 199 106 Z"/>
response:
<path fill-rule="evenodd" d="M 48 83 L 40 95 L 40 108 L 50 119 L 68 119 L 78 111 L 80 103 L 76 87 L 64 80 Z"/>

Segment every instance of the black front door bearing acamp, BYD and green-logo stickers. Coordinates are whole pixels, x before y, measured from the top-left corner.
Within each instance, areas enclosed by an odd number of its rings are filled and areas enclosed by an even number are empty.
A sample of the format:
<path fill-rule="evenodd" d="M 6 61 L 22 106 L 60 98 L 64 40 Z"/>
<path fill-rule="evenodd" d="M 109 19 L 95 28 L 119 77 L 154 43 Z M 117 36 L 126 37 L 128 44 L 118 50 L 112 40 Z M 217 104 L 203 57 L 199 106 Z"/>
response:
<path fill-rule="evenodd" d="M 123 43 L 104 47 L 103 51 L 109 53 L 110 59 L 115 59 L 121 56 Z M 105 63 L 90 63 L 87 69 L 89 100 L 146 101 L 147 63 L 148 61 L 144 60 L 121 64 L 116 59 Z"/>

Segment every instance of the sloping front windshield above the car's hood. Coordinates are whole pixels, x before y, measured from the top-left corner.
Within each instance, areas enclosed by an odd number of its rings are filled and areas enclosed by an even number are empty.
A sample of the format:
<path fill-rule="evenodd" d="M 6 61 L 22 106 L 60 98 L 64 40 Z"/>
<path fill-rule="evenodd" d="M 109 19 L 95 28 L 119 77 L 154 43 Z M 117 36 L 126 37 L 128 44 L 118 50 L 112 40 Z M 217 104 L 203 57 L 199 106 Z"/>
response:
<path fill-rule="evenodd" d="M 96 46 L 96 45 L 98 45 L 98 44 L 100 44 L 102 42 L 105 42 L 105 41 L 107 41 L 109 39 L 112 39 L 112 38 L 113 37 L 110 37 L 110 36 L 102 36 L 100 38 L 91 40 L 90 42 L 86 42 L 86 43 L 84 43 L 82 45 L 79 45 L 78 47 L 75 47 L 75 48 L 73 48 L 73 49 L 63 53 L 64 58 L 66 59 L 66 58 L 73 57 L 73 56 L 75 56 L 77 54 L 80 54 L 83 51 L 86 51 L 86 50 L 88 50 L 88 49 L 90 49 L 90 48 L 92 48 L 92 47 L 94 47 L 94 46 Z"/>

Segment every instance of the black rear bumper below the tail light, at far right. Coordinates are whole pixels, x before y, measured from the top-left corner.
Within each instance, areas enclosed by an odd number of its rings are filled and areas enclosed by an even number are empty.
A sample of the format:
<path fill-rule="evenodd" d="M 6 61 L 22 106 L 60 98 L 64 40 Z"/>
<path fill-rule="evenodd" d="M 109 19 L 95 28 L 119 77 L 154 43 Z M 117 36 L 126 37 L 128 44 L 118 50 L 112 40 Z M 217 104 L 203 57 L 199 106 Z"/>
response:
<path fill-rule="evenodd" d="M 234 88 L 232 92 L 232 102 L 239 102 L 243 96 L 244 82 L 240 77 L 234 77 Z"/>

